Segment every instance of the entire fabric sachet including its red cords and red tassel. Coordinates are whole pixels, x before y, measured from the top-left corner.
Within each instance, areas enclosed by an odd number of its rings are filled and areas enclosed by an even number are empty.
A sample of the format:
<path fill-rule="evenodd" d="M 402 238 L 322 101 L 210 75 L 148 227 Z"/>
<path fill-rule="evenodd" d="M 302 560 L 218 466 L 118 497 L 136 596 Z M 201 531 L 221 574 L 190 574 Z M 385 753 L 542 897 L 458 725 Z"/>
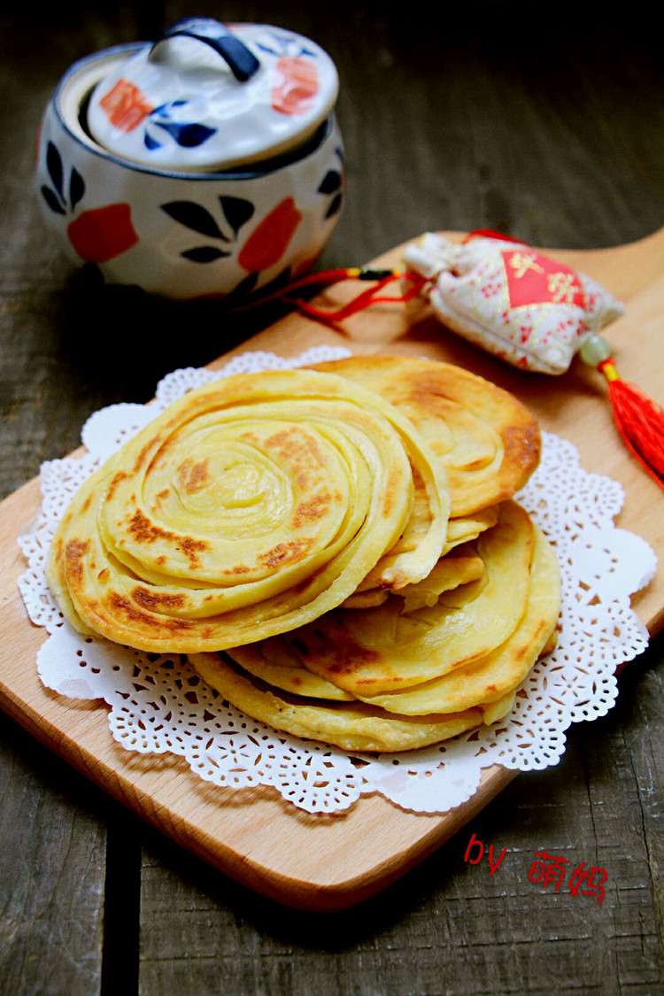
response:
<path fill-rule="evenodd" d="M 591 277 L 520 239 L 477 229 L 453 242 L 426 232 L 407 245 L 399 270 L 341 267 L 308 274 L 263 300 L 279 298 L 343 335 L 343 323 L 372 305 L 426 302 L 446 329 L 533 373 L 565 373 L 578 353 L 606 379 L 613 419 L 632 455 L 664 489 L 664 408 L 618 373 L 600 334 L 624 305 Z M 298 296 L 346 280 L 369 286 L 337 307 Z M 389 284 L 399 281 L 399 294 Z M 413 314 L 415 314 L 415 311 Z"/>

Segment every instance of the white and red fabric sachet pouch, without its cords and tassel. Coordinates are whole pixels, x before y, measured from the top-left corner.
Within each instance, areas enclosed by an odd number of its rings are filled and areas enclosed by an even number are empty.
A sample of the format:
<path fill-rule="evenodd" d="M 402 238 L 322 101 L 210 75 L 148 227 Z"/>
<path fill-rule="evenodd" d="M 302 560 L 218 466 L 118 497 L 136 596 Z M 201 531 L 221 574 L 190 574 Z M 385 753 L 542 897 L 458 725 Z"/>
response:
<path fill-rule="evenodd" d="M 507 363 L 564 373 L 588 336 L 624 308 L 596 281 L 524 242 L 471 233 L 459 245 L 426 233 L 404 263 L 453 332 Z"/>

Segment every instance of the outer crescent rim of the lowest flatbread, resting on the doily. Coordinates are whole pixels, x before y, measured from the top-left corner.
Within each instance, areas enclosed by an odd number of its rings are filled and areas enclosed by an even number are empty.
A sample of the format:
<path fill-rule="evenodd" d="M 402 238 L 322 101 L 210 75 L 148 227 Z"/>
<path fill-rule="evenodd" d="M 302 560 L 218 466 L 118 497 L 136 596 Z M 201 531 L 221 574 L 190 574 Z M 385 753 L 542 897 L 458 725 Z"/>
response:
<path fill-rule="evenodd" d="M 535 527 L 527 604 L 514 632 L 492 652 L 440 677 L 354 696 L 333 683 L 333 673 L 329 680 L 304 666 L 293 649 L 302 633 L 236 647 L 228 655 L 195 654 L 191 660 L 225 699 L 277 729 L 348 750 L 405 751 L 510 712 L 523 679 L 550 648 L 559 607 L 560 571 L 547 538 Z"/>

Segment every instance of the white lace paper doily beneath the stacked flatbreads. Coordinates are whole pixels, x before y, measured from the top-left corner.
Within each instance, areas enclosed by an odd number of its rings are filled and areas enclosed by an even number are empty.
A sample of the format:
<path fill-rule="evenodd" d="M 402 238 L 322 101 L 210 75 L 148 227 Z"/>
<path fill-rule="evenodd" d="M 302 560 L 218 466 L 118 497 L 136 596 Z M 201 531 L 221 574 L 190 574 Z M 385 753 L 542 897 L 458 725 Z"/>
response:
<path fill-rule="evenodd" d="M 630 596 L 652 578 L 654 553 L 639 537 L 615 528 L 622 489 L 583 471 L 570 443 L 546 433 L 542 463 L 517 495 L 553 543 L 562 569 L 557 646 L 536 664 L 509 716 L 438 746 L 353 755 L 278 733 L 229 706 L 179 655 L 146 654 L 75 632 L 44 576 L 56 524 L 81 483 L 184 391 L 229 373 L 341 356 L 348 351 L 323 347 L 291 361 L 249 353 L 221 372 L 168 374 L 147 406 L 115 404 L 94 414 L 83 430 L 88 452 L 42 467 L 43 506 L 20 539 L 29 564 L 20 590 L 32 622 L 49 632 L 38 655 L 44 684 L 71 698 L 104 700 L 112 736 L 127 750 L 183 757 L 193 772 L 219 786 L 273 786 L 311 813 L 340 812 L 374 792 L 403 809 L 442 813 L 473 795 L 483 768 L 500 764 L 528 771 L 555 764 L 569 724 L 610 709 L 616 667 L 647 645 L 647 630 L 630 609 Z"/>

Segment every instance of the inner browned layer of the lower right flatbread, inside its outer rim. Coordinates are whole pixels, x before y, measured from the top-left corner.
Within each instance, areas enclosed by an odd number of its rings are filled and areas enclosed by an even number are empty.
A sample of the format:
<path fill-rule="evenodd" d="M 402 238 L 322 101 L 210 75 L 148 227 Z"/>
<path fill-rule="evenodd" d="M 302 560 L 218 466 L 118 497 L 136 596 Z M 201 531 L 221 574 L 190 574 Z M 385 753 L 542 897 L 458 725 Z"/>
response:
<path fill-rule="evenodd" d="M 444 592 L 431 607 L 403 612 L 403 600 L 361 612 L 337 609 L 284 635 L 308 670 L 355 697 L 407 688 L 491 653 L 524 616 L 534 527 L 516 502 L 477 540 L 479 581 Z"/>

